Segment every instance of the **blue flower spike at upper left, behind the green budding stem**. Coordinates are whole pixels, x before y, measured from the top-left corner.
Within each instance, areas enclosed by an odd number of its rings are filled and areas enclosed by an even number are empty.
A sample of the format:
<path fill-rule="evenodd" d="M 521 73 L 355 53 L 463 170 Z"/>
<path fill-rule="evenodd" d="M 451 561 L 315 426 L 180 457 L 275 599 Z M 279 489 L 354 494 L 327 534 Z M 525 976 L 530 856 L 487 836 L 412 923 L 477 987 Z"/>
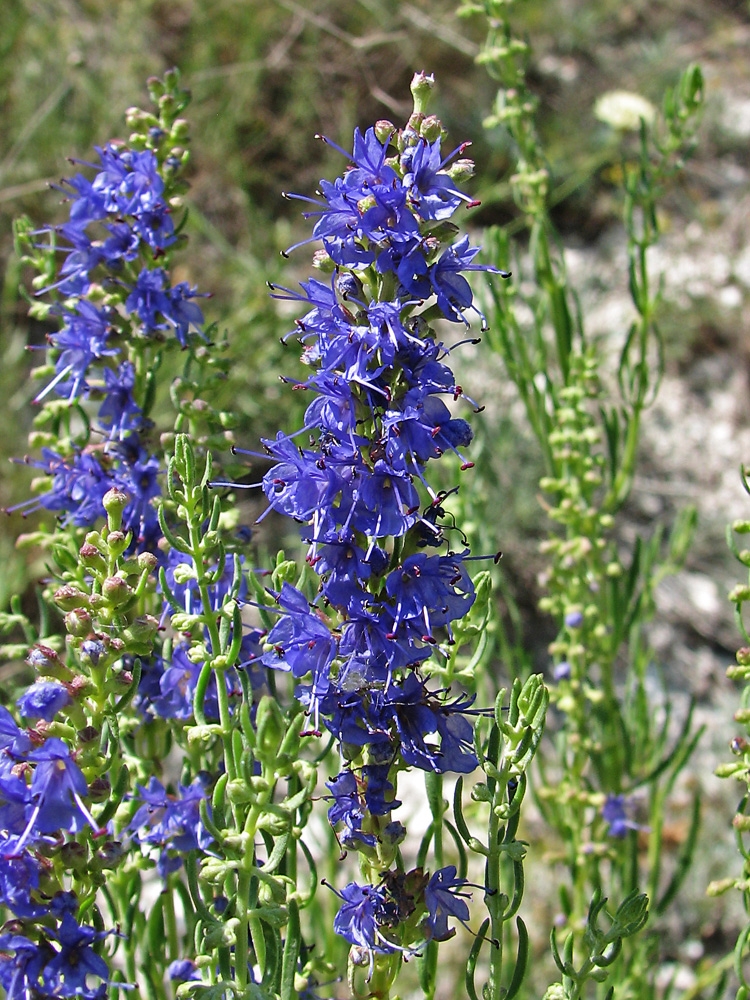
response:
<path fill-rule="evenodd" d="M 143 373 L 165 340 L 184 348 L 203 336 L 198 293 L 186 282 L 172 286 L 163 266 L 178 240 L 173 211 L 186 154 L 176 141 L 184 132 L 180 119 L 168 130 L 154 124 L 136 148 L 111 142 L 97 148 L 98 163 L 74 161 L 94 173 L 60 185 L 68 221 L 29 234 L 49 234 L 54 253 L 63 255 L 55 279 L 42 274 L 36 282 L 38 295 L 56 299 L 37 304 L 38 314 L 60 328 L 48 335 L 49 363 L 38 370 L 48 381 L 35 399 L 51 404 L 37 421 L 51 425 L 37 435 L 49 446 L 42 458 L 26 459 L 45 478 L 34 498 L 12 509 L 44 508 L 90 527 L 116 487 L 129 497 L 124 525 L 139 551 L 156 547 L 152 501 L 161 494 L 160 463 L 148 441 L 153 386 Z M 45 250 L 35 243 L 31 252 Z M 55 397 L 68 406 L 56 407 Z M 71 415 L 83 415 L 82 404 L 86 418 L 76 427 Z"/>

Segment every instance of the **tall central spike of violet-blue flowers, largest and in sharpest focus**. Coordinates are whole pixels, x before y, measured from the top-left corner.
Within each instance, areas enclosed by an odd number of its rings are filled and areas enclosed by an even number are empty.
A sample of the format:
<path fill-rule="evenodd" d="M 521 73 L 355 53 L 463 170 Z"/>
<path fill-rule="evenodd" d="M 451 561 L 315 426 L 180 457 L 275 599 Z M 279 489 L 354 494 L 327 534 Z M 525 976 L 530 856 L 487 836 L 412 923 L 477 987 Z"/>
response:
<path fill-rule="evenodd" d="M 406 128 L 356 130 L 349 169 L 321 181 L 307 215 L 327 280 L 302 282 L 301 292 L 272 286 L 306 309 L 295 332 L 314 371 L 295 388 L 314 398 L 297 434 L 264 441 L 275 464 L 261 485 L 269 509 L 302 524 L 319 588 L 312 605 L 286 582 L 273 593 L 280 616 L 261 661 L 298 678 L 313 730 L 322 721 L 335 735 L 346 767 L 329 784 L 329 819 L 381 873 L 404 836 L 390 819 L 398 771 L 468 773 L 478 763 L 467 718 L 473 698 L 429 684 L 428 661 L 446 655 L 452 623 L 475 599 L 471 557 L 450 548 L 445 494 L 428 478 L 445 453 L 469 468 L 463 449 L 472 438 L 448 405 L 464 393 L 431 324 L 468 326 L 472 311 L 483 323 L 464 273 L 501 272 L 473 263 L 478 248 L 448 221 L 472 204 L 458 186 L 472 165 L 443 156 L 440 123 L 422 110 L 431 85 L 419 74 Z M 306 446 L 295 443 L 300 434 Z M 337 929 L 352 944 L 371 953 L 397 947 L 400 911 L 383 890 L 352 884 L 343 898 Z M 452 912 L 433 915 L 427 936 L 445 936 Z"/>

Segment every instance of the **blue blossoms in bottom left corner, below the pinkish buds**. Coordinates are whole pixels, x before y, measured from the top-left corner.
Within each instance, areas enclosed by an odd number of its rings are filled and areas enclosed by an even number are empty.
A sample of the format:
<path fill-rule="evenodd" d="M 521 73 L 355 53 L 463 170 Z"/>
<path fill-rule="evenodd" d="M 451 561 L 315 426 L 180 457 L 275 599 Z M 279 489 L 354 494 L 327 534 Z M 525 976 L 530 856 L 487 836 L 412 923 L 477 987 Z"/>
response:
<path fill-rule="evenodd" d="M 18 702 L 27 718 L 52 718 L 55 705 L 70 700 L 63 685 L 34 687 Z M 16 928 L 0 935 L 0 983 L 10 997 L 34 991 L 104 997 L 109 972 L 91 945 L 106 933 L 79 923 L 74 894 L 58 889 L 50 895 L 56 880 L 49 859 L 64 833 L 87 826 L 100 842 L 99 872 L 116 864 L 117 845 L 92 816 L 86 800 L 95 790 L 70 748 L 57 737 L 44 739 L 43 732 L 19 728 L 0 707 L 0 903 Z M 75 847 L 70 840 L 68 855 Z M 96 988 L 87 986 L 89 974 L 101 980 Z"/>

